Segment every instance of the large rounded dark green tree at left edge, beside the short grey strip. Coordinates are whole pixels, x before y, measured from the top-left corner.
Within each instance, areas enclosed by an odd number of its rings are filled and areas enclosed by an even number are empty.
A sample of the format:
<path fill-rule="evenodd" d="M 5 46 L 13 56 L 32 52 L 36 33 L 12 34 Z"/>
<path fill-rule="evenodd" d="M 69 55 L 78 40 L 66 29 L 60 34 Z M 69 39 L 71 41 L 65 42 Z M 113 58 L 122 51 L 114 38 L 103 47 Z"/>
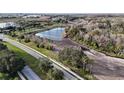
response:
<path fill-rule="evenodd" d="M 0 58 L 0 72 L 7 73 L 9 75 L 15 74 L 17 71 L 20 71 L 25 62 L 23 59 L 17 57 L 14 54 L 8 54 Z"/>

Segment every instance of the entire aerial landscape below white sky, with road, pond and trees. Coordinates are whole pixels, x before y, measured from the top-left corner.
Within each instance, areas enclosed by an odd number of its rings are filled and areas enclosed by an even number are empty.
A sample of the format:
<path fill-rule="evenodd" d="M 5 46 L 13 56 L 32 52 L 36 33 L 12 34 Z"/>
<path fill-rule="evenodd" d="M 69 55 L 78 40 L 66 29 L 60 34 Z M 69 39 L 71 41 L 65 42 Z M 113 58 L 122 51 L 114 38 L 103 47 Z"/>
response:
<path fill-rule="evenodd" d="M 124 80 L 124 14 L 0 13 L 0 80 Z"/>

